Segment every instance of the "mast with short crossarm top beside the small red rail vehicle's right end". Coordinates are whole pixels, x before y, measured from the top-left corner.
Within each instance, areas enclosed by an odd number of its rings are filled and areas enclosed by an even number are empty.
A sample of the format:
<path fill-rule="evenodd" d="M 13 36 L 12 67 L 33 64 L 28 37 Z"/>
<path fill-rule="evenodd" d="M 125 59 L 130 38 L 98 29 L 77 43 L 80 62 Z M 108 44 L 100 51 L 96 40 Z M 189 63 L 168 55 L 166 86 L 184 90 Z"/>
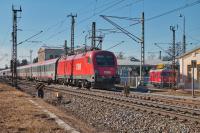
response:
<path fill-rule="evenodd" d="M 174 73 L 174 81 L 175 81 L 175 67 L 176 67 L 176 61 L 175 61 L 175 57 L 176 57 L 176 42 L 175 42 L 175 35 L 176 35 L 176 30 L 178 27 L 175 26 L 170 26 L 170 30 L 173 32 L 173 42 L 172 42 L 172 69 L 173 69 L 173 73 Z"/>

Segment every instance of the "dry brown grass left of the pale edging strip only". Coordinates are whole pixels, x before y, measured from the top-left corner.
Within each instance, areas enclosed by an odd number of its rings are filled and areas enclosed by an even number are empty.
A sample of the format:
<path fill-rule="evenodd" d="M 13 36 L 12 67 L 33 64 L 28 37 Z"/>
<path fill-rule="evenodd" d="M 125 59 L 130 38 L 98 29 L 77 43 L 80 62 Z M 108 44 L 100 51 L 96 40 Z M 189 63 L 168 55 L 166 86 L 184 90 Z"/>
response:
<path fill-rule="evenodd" d="M 29 96 L 0 84 L 0 132 L 63 133 L 54 120 L 28 101 Z"/>

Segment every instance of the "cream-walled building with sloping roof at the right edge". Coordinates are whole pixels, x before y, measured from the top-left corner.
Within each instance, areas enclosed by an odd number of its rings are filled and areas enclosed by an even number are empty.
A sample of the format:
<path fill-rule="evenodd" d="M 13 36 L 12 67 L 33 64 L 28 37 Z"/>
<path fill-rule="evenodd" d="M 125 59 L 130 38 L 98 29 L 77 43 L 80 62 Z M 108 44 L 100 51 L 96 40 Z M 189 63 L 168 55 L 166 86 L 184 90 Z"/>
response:
<path fill-rule="evenodd" d="M 192 86 L 192 65 L 191 61 L 196 61 L 196 68 L 194 68 L 194 87 L 200 89 L 200 46 L 186 52 L 178 57 L 180 65 L 180 82 L 184 84 L 185 88 Z"/>

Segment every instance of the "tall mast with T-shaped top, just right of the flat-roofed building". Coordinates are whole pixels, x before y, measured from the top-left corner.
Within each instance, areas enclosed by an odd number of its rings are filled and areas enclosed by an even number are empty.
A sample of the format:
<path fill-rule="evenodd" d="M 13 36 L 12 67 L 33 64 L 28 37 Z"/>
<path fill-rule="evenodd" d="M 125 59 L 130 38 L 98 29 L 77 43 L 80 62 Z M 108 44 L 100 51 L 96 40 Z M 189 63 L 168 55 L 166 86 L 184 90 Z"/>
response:
<path fill-rule="evenodd" d="M 71 53 L 70 54 L 74 54 L 74 28 L 75 28 L 75 17 L 77 17 L 76 15 L 72 15 L 72 13 L 70 15 L 68 15 L 68 17 L 71 17 L 72 21 L 71 21 Z"/>

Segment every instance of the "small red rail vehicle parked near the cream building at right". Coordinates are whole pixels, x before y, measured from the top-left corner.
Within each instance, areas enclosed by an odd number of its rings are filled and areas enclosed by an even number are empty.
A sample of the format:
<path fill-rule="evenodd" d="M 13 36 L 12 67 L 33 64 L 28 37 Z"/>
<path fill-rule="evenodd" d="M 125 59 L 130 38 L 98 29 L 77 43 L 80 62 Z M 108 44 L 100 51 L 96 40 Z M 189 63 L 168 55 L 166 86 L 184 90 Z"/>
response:
<path fill-rule="evenodd" d="M 169 87 L 176 84 L 176 72 L 172 69 L 150 70 L 150 83 L 158 87 Z"/>

